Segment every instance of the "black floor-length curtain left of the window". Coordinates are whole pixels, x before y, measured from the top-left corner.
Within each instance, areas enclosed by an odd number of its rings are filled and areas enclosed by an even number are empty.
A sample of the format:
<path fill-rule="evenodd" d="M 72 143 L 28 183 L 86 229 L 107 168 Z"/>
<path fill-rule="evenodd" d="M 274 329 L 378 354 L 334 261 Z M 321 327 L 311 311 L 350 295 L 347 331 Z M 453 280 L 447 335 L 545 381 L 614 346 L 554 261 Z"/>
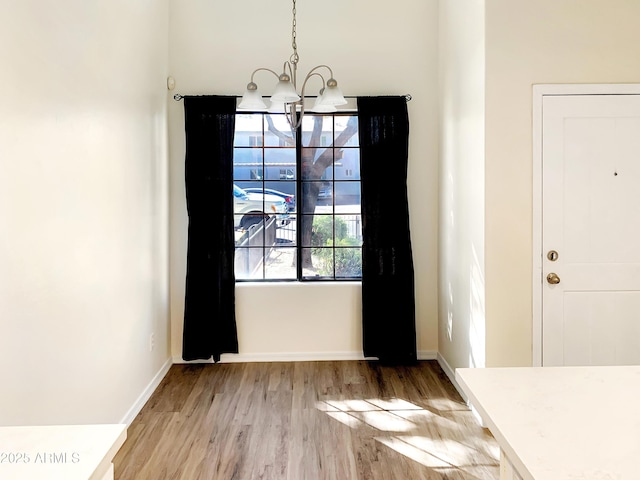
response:
<path fill-rule="evenodd" d="M 189 239 L 184 360 L 238 352 L 233 237 L 235 97 L 184 97 Z"/>

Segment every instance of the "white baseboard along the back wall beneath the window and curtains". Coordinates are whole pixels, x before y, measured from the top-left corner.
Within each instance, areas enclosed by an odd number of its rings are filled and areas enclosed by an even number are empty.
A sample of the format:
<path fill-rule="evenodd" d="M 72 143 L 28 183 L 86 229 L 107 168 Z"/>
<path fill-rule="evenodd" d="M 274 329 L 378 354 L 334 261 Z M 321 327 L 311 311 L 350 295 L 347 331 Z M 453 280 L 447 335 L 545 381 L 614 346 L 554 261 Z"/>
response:
<path fill-rule="evenodd" d="M 418 360 L 435 360 L 436 358 L 437 352 L 418 351 Z M 220 363 L 321 362 L 367 359 L 362 352 L 225 353 L 220 356 Z M 213 363 L 213 360 L 185 361 L 182 357 L 175 356 L 173 363 Z"/>

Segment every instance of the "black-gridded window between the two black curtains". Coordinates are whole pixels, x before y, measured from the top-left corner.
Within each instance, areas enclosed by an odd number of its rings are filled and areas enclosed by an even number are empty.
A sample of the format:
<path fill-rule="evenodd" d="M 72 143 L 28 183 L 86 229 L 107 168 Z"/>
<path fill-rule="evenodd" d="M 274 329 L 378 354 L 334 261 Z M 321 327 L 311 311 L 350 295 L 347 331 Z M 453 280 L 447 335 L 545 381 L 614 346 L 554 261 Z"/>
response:
<path fill-rule="evenodd" d="M 236 115 L 238 281 L 361 278 L 357 125 L 354 114 L 305 114 L 294 134 L 283 114 Z"/>

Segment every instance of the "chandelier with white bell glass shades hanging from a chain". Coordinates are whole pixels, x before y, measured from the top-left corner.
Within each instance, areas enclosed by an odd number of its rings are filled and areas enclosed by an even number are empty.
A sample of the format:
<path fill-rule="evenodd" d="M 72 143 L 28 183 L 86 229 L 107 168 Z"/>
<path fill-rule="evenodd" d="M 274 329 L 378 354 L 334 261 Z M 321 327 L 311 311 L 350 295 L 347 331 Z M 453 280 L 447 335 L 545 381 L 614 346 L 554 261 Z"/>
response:
<path fill-rule="evenodd" d="M 291 47 L 293 48 L 293 53 L 289 60 L 284 62 L 282 73 L 278 75 L 269 68 L 257 68 L 254 70 L 238 108 L 241 110 L 267 110 L 272 113 L 283 112 L 291 127 L 297 129 L 302 123 L 304 115 L 305 88 L 312 77 L 318 77 L 322 80 L 322 88 L 316 97 L 313 107 L 309 109 L 310 111 L 317 113 L 335 112 L 338 105 L 345 105 L 347 101 L 338 88 L 338 82 L 333 78 L 333 71 L 327 65 L 313 67 L 304 77 L 300 94 L 297 93 L 297 70 L 300 57 L 298 56 L 298 46 L 296 44 L 296 0 L 293 0 L 292 14 Z M 268 108 L 262 95 L 258 92 L 258 85 L 254 82 L 256 73 L 261 71 L 270 72 L 278 79 L 270 98 L 271 106 Z M 324 72 L 325 75 L 328 72 L 327 80 L 320 72 Z"/>

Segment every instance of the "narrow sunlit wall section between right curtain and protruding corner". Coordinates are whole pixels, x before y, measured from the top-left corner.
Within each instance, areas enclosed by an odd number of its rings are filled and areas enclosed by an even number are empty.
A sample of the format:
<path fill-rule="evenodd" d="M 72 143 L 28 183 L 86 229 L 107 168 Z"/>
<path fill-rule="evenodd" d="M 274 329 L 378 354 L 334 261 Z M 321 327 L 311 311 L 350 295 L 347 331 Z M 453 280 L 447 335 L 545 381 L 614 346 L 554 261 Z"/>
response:
<path fill-rule="evenodd" d="M 439 353 L 485 364 L 484 3 L 440 3 Z"/>

